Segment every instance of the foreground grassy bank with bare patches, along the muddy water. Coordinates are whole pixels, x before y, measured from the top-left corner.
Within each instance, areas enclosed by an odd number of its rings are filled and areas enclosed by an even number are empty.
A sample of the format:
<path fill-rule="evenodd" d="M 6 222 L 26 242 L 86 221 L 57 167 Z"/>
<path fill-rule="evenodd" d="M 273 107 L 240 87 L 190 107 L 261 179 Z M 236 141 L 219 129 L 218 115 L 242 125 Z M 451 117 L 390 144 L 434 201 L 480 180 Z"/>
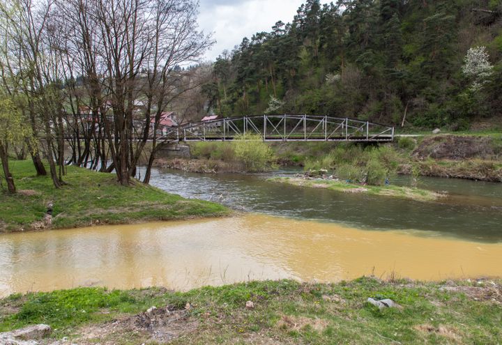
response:
<path fill-rule="evenodd" d="M 501 281 L 249 282 L 185 293 L 79 288 L 0 300 L 0 330 L 47 323 L 60 344 L 497 344 Z M 379 310 L 367 298 L 390 298 Z M 246 308 L 250 300 L 254 307 Z M 144 313 L 155 306 L 158 309 Z"/>

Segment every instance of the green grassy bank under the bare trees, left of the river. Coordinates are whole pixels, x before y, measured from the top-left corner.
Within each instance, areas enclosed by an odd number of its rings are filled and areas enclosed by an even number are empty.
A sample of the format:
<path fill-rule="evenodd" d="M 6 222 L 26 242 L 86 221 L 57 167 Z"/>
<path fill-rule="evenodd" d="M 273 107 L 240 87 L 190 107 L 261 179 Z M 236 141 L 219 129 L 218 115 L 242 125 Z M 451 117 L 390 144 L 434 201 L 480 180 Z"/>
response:
<path fill-rule="evenodd" d="M 114 174 L 68 167 L 56 189 L 50 176 L 36 176 L 31 161 L 11 161 L 18 192 L 1 194 L 0 231 L 81 227 L 90 224 L 175 220 L 224 215 L 227 208 L 207 201 L 187 200 L 135 181 L 116 183 Z M 52 223 L 44 222 L 52 202 Z"/>

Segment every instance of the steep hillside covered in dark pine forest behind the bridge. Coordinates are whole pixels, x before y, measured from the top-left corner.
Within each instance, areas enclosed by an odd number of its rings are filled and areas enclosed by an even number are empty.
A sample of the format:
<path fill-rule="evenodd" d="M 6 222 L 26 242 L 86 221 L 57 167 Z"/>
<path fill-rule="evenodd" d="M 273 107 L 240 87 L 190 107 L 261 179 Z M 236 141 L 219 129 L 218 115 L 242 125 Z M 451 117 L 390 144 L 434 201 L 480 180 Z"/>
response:
<path fill-rule="evenodd" d="M 502 1 L 307 0 L 244 38 L 203 92 L 216 114 L 307 113 L 405 127 L 502 121 Z"/>

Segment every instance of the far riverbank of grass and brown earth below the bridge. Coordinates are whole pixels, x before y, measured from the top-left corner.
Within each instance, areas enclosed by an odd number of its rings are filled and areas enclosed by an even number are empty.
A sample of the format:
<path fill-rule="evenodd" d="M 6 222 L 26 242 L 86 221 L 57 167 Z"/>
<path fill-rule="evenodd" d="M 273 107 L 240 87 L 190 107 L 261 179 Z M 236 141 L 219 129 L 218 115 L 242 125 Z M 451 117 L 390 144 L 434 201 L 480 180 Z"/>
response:
<path fill-rule="evenodd" d="M 159 158 L 155 160 L 155 167 L 204 174 L 249 171 L 235 154 L 234 145 L 232 142 L 192 143 L 190 159 Z M 259 171 L 273 170 L 277 166 L 330 171 L 333 168 L 330 166 L 333 165 L 330 158 L 333 151 L 337 151 L 339 160 L 348 160 L 366 149 L 382 148 L 386 157 L 379 159 L 379 164 L 387 164 L 386 169 L 391 167 L 399 174 L 502 182 L 502 136 L 496 134 L 400 137 L 392 144 L 381 145 L 325 141 L 266 145 L 270 148 L 272 159 L 261 164 Z M 353 165 L 353 162 L 347 165 Z"/>

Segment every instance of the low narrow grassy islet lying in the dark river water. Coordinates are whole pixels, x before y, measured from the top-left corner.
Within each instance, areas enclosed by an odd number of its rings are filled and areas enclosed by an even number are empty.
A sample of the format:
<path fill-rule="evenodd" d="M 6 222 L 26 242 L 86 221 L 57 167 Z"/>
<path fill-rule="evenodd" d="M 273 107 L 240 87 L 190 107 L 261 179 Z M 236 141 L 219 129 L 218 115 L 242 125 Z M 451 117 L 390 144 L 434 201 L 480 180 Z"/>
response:
<path fill-rule="evenodd" d="M 363 193 L 378 195 L 380 197 L 397 197 L 415 201 L 435 201 L 445 197 L 445 194 L 419 188 L 401 187 L 397 185 L 362 185 L 360 183 L 348 183 L 347 181 L 326 178 L 309 178 L 307 176 L 274 177 L 268 178 L 267 181 L 287 183 L 300 187 L 324 188 L 344 193 Z"/>

